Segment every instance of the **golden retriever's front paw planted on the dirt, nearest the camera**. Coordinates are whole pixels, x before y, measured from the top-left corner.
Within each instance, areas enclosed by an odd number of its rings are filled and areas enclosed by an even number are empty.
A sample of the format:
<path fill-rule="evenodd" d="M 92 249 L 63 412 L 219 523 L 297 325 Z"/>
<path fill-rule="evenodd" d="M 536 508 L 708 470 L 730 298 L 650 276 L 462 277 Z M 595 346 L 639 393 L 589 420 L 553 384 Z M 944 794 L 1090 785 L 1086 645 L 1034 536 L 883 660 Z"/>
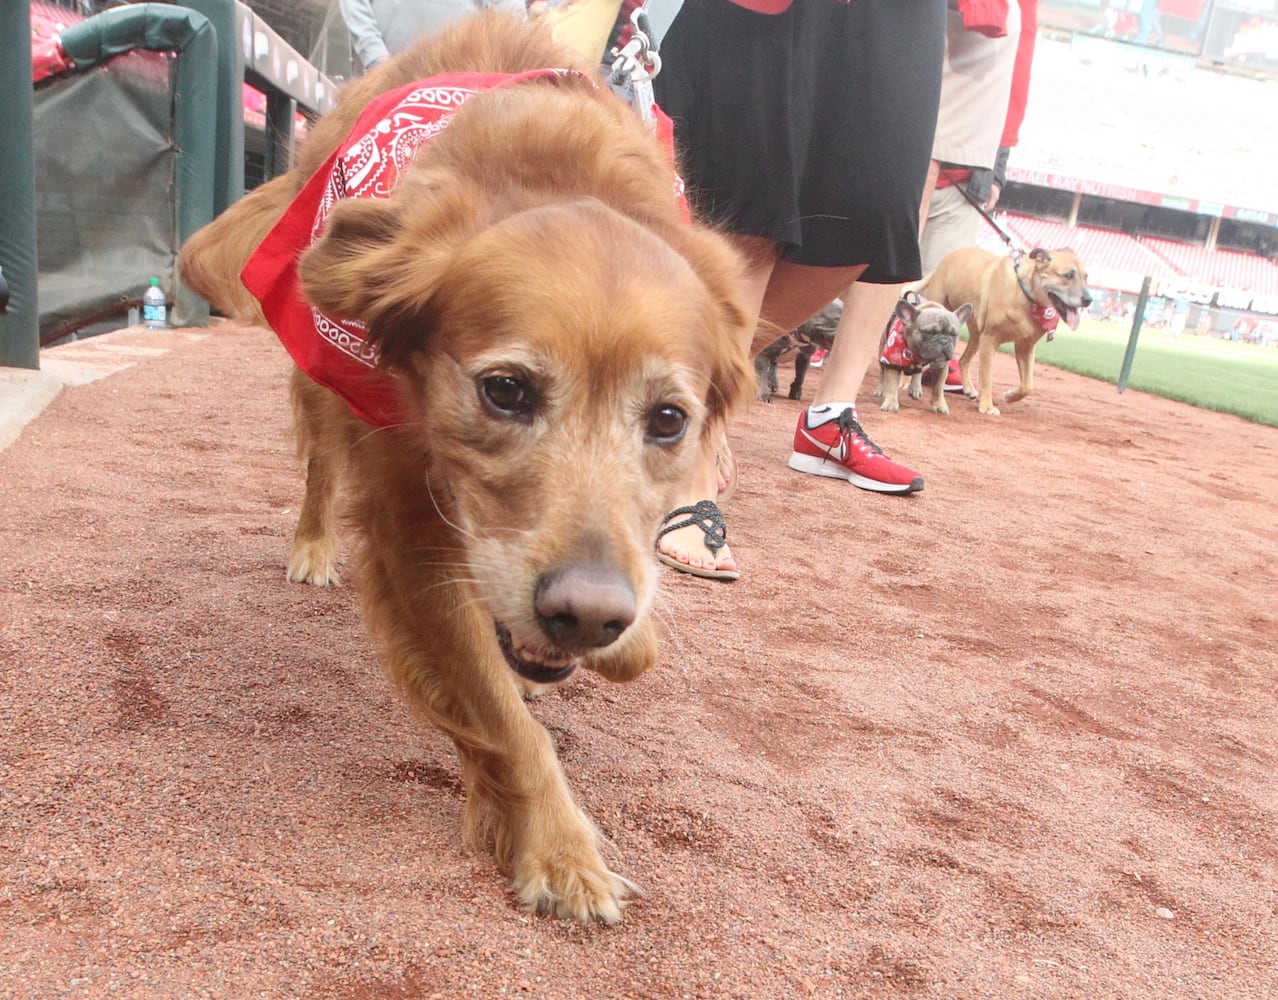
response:
<path fill-rule="evenodd" d="M 638 887 L 608 871 L 594 845 L 594 831 L 571 831 L 515 862 L 511 885 L 519 902 L 537 913 L 574 921 L 617 923 L 626 898 Z"/>

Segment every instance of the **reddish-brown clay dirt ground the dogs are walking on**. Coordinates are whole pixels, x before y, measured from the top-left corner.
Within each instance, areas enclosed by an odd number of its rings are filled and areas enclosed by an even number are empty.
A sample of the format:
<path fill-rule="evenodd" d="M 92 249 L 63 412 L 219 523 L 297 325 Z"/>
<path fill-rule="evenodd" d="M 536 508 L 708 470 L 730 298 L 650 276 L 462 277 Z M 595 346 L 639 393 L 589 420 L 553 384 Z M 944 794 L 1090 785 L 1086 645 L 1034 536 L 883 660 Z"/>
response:
<path fill-rule="evenodd" d="M 1278 430 L 866 399 L 901 499 L 751 404 L 743 579 L 533 706 L 645 891 L 608 928 L 514 905 L 350 588 L 285 583 L 271 335 L 152 343 L 0 454 L 0 996 L 1278 995 Z"/>

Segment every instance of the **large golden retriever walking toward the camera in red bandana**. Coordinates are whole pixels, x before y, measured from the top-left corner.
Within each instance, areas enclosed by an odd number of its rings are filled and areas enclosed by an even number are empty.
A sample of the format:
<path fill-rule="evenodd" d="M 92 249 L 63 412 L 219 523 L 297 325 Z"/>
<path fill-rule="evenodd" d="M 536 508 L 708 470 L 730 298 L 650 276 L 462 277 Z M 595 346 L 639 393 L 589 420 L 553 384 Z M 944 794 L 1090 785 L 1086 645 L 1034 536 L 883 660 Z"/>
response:
<path fill-rule="evenodd" d="M 668 153 L 544 28 L 468 19 L 353 84 L 298 166 L 183 249 L 215 306 L 371 100 L 461 70 L 576 75 L 475 93 L 387 198 L 336 203 L 300 254 L 308 306 L 359 321 L 400 416 L 373 427 L 304 375 L 307 495 L 289 575 L 334 579 L 343 471 L 364 619 L 461 757 L 465 834 L 518 900 L 615 922 L 604 864 L 521 684 L 654 665 L 654 538 L 708 426 L 750 393 L 741 265 L 689 224 Z M 268 315 L 268 312 L 267 312 Z"/>

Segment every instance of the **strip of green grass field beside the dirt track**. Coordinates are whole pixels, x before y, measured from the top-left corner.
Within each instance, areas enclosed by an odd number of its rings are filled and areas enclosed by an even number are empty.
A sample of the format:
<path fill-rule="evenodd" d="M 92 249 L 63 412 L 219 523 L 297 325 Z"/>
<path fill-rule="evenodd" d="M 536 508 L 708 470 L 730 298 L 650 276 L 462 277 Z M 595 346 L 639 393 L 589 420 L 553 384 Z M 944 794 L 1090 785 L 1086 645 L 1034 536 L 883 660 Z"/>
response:
<path fill-rule="evenodd" d="M 1061 325 L 1051 344 L 1040 340 L 1038 361 L 1118 384 L 1130 330 L 1120 324 Z M 1144 327 L 1132 359 L 1128 389 L 1233 413 L 1278 427 L 1278 350 L 1194 334 L 1178 338 Z"/>

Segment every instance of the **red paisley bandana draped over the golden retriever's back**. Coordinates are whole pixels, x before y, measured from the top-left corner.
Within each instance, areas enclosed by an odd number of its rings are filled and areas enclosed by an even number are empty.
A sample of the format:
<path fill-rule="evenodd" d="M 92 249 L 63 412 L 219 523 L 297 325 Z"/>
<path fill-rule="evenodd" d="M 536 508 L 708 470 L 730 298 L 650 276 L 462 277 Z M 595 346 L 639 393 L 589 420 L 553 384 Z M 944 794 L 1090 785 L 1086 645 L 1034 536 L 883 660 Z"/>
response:
<path fill-rule="evenodd" d="M 360 419 L 378 427 L 403 422 L 396 376 L 377 366 L 377 349 L 368 343 L 362 322 L 327 316 L 305 301 L 298 258 L 320 238 L 328 214 L 343 198 L 391 197 L 422 143 L 447 128 L 456 110 L 477 92 L 565 75 L 589 79 L 561 69 L 449 73 L 380 95 L 244 265 L 244 286 L 261 303 L 298 367 L 346 400 Z M 659 109 L 654 111 L 657 136 L 674 162 L 674 127 Z M 677 178 L 672 197 L 686 219 Z"/>

